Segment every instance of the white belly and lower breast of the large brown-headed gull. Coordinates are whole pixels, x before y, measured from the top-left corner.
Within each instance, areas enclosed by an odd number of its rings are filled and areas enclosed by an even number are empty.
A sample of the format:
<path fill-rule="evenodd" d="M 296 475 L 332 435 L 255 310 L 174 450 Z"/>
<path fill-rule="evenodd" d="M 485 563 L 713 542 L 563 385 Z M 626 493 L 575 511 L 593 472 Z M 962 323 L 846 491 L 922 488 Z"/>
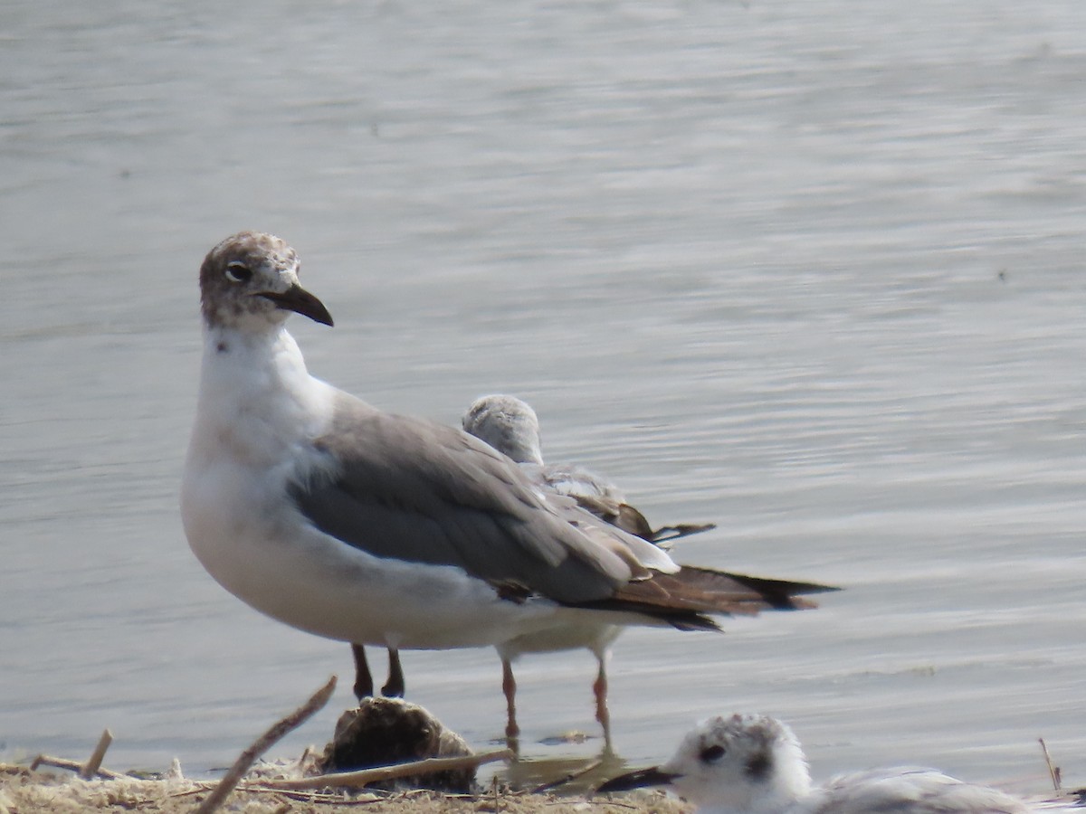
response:
<path fill-rule="evenodd" d="M 458 568 L 353 548 L 290 507 L 262 506 L 261 495 L 282 494 L 266 486 L 223 461 L 189 471 L 181 518 L 207 572 L 280 622 L 344 641 L 446 649 L 497 645 L 546 627 L 558 611 L 547 600 L 501 599 Z"/>

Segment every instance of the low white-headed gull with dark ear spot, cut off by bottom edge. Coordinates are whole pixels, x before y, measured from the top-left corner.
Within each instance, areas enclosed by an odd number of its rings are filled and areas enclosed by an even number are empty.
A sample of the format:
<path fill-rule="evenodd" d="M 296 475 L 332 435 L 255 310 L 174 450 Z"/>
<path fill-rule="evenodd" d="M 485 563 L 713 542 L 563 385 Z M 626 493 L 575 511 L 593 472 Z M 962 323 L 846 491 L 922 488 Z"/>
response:
<path fill-rule="evenodd" d="M 702 814 L 1026 814 L 1071 811 L 1066 802 L 1027 805 L 933 768 L 896 767 L 811 784 L 792 730 L 765 715 L 712 717 L 683 739 L 671 760 L 616 777 L 597 791 L 666 786 Z"/>

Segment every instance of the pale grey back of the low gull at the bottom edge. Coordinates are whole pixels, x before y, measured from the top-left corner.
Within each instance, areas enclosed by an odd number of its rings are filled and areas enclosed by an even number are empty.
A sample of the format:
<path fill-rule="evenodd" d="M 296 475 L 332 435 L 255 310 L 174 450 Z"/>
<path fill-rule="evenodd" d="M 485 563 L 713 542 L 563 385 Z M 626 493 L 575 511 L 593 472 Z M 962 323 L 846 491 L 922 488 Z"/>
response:
<path fill-rule="evenodd" d="M 933 768 L 891 768 L 835 777 L 811 814 L 1026 814 L 1025 804 Z M 813 801 L 812 801 L 813 802 Z"/>

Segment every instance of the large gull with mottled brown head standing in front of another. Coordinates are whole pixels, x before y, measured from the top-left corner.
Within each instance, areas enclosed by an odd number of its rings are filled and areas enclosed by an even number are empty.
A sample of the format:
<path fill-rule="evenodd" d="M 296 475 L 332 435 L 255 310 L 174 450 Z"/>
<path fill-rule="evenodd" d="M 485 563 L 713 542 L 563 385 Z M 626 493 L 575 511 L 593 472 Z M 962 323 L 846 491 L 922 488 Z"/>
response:
<path fill-rule="evenodd" d="M 719 629 L 826 589 L 675 564 L 478 438 L 310 376 L 291 311 L 330 326 L 287 243 L 227 238 L 200 269 L 204 353 L 185 533 L 227 590 L 328 638 L 501 646 L 601 622 Z M 566 635 L 566 634 L 563 634 Z"/>

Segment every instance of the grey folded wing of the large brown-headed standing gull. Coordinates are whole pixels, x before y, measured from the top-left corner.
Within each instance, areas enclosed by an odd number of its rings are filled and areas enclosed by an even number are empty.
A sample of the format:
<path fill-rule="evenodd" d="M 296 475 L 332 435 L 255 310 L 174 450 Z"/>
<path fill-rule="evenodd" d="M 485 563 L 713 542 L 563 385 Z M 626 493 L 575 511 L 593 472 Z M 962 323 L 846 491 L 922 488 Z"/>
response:
<path fill-rule="evenodd" d="M 545 496 L 459 430 L 341 393 L 315 444 L 327 466 L 292 484 L 291 497 L 318 529 L 378 557 L 455 565 L 514 595 L 568 603 L 610 597 L 649 573 L 626 535 Z"/>

